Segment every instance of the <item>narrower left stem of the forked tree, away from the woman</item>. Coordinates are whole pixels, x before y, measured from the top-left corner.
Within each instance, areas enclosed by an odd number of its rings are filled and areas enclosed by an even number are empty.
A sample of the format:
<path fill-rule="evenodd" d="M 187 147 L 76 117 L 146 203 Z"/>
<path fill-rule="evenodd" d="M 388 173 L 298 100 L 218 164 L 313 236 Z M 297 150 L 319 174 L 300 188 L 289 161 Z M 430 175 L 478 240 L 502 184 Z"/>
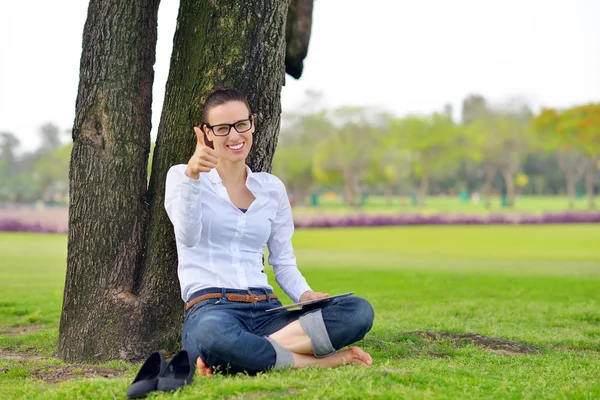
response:
<path fill-rule="evenodd" d="M 133 293 L 147 217 L 158 0 L 91 0 L 70 163 L 59 356 L 128 358 L 140 340 Z"/>

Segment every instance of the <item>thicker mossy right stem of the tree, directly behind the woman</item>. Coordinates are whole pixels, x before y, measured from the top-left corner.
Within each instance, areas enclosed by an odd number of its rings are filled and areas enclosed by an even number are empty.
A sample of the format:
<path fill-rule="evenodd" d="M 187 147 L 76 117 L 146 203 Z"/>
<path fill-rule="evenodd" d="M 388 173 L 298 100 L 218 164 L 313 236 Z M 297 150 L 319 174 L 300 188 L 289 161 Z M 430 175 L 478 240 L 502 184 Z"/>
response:
<path fill-rule="evenodd" d="M 253 171 L 271 170 L 285 79 L 286 13 L 287 2 L 280 0 L 181 1 L 150 178 L 147 258 L 137 286 L 148 299 L 140 340 L 152 338 L 155 349 L 180 346 L 183 321 L 175 238 L 164 209 L 167 171 L 193 154 L 201 105 L 222 84 L 248 94 L 258 118 L 247 163 Z"/>

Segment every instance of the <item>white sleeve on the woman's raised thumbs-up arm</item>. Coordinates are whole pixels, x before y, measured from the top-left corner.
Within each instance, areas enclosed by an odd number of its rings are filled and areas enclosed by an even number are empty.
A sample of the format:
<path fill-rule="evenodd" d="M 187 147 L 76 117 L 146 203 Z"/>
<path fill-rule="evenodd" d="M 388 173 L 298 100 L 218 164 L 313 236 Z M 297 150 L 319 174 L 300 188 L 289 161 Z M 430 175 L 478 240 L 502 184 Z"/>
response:
<path fill-rule="evenodd" d="M 177 241 L 193 247 L 202 233 L 202 189 L 200 179 L 185 174 L 187 166 L 174 165 L 167 172 L 165 209 L 175 229 Z"/>

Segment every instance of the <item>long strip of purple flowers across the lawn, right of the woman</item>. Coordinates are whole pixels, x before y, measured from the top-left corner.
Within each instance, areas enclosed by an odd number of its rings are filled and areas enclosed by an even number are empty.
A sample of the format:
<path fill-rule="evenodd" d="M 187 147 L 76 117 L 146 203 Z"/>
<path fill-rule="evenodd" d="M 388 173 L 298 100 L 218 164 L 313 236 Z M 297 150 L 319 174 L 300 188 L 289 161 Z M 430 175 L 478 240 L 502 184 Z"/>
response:
<path fill-rule="evenodd" d="M 403 225 L 524 225 L 524 224 L 582 224 L 600 223 L 600 212 L 567 212 L 547 214 L 489 214 L 489 215 L 351 215 L 342 217 L 318 216 L 295 221 L 296 228 L 342 228 L 356 226 Z"/>

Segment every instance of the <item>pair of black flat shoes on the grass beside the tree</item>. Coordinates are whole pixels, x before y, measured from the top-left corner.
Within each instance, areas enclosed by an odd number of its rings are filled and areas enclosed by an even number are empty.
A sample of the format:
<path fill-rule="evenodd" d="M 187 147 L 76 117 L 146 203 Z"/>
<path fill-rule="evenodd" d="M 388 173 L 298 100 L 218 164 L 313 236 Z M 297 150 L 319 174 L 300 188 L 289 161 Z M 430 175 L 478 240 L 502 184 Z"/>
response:
<path fill-rule="evenodd" d="M 180 389 L 192 383 L 195 369 L 186 350 L 179 351 L 168 363 L 160 353 L 154 352 L 144 361 L 127 389 L 127 398 L 144 397 L 155 390 L 169 392 Z"/>

